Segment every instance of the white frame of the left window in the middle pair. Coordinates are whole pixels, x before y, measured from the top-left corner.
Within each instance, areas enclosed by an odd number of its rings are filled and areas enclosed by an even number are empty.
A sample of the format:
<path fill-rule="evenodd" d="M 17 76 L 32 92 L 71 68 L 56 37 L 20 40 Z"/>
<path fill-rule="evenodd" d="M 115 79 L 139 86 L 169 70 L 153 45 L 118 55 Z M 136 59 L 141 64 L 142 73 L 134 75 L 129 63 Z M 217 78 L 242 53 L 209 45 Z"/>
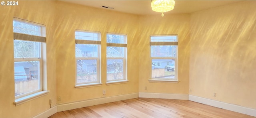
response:
<path fill-rule="evenodd" d="M 96 40 L 85 40 L 85 39 L 76 39 L 76 44 L 89 44 L 89 45 L 98 45 L 98 57 L 76 57 L 76 85 L 75 88 L 84 88 L 84 87 L 92 87 L 92 86 L 100 86 L 102 85 L 100 79 L 100 32 L 99 31 L 86 31 L 86 30 L 76 30 L 75 32 L 84 32 L 84 33 L 96 33 L 98 38 Z M 79 53 L 79 52 L 78 52 Z M 82 52 L 80 52 L 82 54 Z M 77 83 L 77 61 L 78 60 L 86 60 L 86 59 L 96 59 L 96 76 L 97 80 L 92 82 L 84 82 L 84 83 Z"/>

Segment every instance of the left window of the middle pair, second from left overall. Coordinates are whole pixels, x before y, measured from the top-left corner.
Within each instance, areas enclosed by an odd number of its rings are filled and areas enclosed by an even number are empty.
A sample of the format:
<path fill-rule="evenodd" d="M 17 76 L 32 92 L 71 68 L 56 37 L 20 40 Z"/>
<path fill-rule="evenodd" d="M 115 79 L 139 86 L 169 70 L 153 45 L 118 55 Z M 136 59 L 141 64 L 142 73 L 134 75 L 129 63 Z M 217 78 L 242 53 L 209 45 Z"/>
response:
<path fill-rule="evenodd" d="M 76 31 L 76 85 L 100 83 L 100 32 Z"/>

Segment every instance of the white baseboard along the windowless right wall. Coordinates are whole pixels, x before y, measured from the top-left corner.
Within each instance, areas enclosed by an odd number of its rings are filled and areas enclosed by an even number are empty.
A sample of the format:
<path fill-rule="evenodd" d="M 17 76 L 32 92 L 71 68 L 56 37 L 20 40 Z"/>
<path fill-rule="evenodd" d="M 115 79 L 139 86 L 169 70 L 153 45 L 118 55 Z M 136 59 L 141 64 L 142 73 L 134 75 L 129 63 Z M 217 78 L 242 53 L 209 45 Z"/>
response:
<path fill-rule="evenodd" d="M 189 100 L 256 117 L 256 109 L 189 95 Z"/>

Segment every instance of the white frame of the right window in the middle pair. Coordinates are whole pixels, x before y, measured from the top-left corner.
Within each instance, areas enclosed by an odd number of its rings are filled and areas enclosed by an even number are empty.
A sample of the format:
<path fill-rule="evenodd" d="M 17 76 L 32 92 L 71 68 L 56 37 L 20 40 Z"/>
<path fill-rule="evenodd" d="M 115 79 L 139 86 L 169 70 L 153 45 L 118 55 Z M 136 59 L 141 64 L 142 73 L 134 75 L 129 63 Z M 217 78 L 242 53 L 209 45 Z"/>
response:
<path fill-rule="evenodd" d="M 106 78 L 106 84 L 112 83 L 127 83 L 127 35 L 121 33 L 107 33 L 108 35 L 122 35 L 124 36 L 124 43 L 107 43 L 107 47 L 124 47 L 124 57 L 106 57 L 108 59 L 123 59 L 123 78 L 117 80 L 108 80 Z M 107 66 L 107 65 L 106 65 Z"/>

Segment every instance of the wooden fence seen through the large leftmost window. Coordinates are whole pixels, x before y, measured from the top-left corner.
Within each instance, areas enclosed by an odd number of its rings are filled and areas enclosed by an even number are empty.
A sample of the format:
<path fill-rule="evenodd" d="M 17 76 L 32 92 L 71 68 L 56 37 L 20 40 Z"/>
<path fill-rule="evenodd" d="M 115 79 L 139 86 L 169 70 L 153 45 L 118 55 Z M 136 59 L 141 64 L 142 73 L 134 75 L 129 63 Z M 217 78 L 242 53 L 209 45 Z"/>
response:
<path fill-rule="evenodd" d="M 15 96 L 23 93 L 31 92 L 34 90 L 38 90 L 40 84 L 38 79 L 30 80 L 30 81 L 18 81 L 15 82 Z"/>

